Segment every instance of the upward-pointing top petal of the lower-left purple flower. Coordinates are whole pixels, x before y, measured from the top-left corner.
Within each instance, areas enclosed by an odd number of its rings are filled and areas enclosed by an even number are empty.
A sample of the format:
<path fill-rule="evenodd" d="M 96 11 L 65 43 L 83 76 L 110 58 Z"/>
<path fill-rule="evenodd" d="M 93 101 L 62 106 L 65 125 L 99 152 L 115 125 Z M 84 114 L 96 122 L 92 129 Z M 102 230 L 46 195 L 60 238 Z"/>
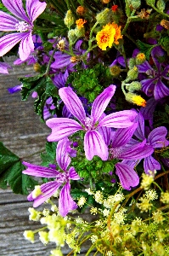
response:
<path fill-rule="evenodd" d="M 68 143 L 69 139 L 65 137 L 64 139 L 59 141 L 56 149 L 56 160 L 58 162 L 59 167 L 64 171 L 67 170 L 67 167 L 70 165 L 71 161 L 70 156 L 66 150 Z"/>

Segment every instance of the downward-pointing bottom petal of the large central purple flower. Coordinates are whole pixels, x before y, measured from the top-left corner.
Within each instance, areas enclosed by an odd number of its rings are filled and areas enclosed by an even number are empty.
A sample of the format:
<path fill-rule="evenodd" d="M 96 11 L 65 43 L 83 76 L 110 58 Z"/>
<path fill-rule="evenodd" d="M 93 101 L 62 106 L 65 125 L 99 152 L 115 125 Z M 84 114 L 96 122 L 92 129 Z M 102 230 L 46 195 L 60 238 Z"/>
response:
<path fill-rule="evenodd" d="M 87 131 L 84 137 L 84 150 L 87 160 L 98 155 L 102 160 L 108 159 L 108 148 L 98 131 Z"/>

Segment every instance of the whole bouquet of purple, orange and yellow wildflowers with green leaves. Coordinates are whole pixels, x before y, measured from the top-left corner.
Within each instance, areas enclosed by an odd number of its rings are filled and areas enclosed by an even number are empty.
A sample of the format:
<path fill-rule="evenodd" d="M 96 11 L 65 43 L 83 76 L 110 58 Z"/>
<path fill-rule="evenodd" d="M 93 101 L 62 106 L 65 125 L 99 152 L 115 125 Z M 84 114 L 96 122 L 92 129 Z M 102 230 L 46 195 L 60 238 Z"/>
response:
<path fill-rule="evenodd" d="M 51 128 L 42 165 L 0 144 L 1 188 L 27 194 L 42 224 L 25 238 L 54 242 L 51 256 L 65 244 L 77 255 L 85 241 L 86 255 L 168 255 L 169 2 L 2 0 L 0 9 L 0 72 L 14 54 L 35 71 L 8 91 L 31 95 Z"/>

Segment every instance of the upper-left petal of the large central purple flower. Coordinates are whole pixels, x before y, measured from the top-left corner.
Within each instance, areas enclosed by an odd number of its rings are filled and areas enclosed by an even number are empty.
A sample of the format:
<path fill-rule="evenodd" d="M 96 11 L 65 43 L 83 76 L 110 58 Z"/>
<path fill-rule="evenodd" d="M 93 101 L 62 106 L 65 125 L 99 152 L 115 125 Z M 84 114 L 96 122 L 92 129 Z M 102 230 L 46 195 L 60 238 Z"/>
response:
<path fill-rule="evenodd" d="M 76 96 L 76 93 L 70 87 L 63 87 L 59 89 L 59 96 L 70 113 L 72 113 L 76 119 L 79 119 L 84 125 L 86 113 L 82 106 L 82 102 L 79 97 Z"/>

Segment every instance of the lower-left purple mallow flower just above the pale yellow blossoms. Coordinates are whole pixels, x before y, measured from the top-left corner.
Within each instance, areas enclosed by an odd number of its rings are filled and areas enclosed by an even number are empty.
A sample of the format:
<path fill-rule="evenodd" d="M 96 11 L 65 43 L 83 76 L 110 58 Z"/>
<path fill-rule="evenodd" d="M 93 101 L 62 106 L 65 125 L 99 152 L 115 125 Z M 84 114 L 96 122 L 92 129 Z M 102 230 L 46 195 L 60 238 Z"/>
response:
<path fill-rule="evenodd" d="M 44 166 L 36 166 L 27 162 L 23 162 L 23 165 L 27 167 L 23 173 L 36 177 L 53 177 L 54 181 L 44 183 L 41 185 L 41 195 L 37 195 L 37 197 L 33 197 L 33 192 L 28 195 L 27 199 L 29 201 L 34 201 L 33 207 L 38 207 L 44 201 L 47 201 L 54 193 L 59 189 L 61 185 L 64 185 L 59 193 L 59 214 L 63 217 L 65 215 L 77 208 L 76 202 L 70 196 L 70 179 L 78 180 L 80 177 L 76 173 L 74 167 L 70 167 L 68 170 L 68 166 L 70 165 L 70 141 L 67 137 L 63 140 L 60 140 L 57 149 L 56 149 L 56 160 L 59 168 L 62 171 L 57 171 L 53 166 L 44 167 Z"/>

